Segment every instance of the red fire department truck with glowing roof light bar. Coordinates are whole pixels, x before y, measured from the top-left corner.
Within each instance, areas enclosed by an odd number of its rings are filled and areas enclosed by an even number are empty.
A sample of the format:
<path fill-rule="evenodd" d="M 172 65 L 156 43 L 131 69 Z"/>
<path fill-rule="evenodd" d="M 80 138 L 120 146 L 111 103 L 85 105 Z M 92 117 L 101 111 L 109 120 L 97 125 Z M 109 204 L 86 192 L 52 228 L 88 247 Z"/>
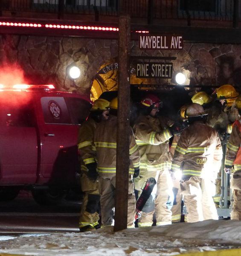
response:
<path fill-rule="evenodd" d="M 91 105 L 53 85 L 0 84 L 0 201 L 29 189 L 39 204 L 56 204 L 78 186 L 77 133 Z"/>

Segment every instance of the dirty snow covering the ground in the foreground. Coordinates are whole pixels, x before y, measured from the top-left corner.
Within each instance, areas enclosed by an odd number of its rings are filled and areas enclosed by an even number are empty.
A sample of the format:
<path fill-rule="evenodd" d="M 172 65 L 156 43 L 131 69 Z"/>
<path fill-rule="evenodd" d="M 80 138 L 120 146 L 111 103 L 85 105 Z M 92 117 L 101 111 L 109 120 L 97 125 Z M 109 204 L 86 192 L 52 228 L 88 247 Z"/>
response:
<path fill-rule="evenodd" d="M 241 221 L 208 220 L 113 232 L 0 236 L 0 253 L 34 256 L 172 256 L 241 248 Z"/>

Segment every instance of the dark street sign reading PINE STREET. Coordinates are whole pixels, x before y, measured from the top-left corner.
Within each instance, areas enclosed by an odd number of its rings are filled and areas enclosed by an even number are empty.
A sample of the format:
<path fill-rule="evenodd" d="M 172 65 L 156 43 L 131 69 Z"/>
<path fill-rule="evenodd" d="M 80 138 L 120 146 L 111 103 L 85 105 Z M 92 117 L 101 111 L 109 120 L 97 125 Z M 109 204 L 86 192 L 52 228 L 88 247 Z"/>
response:
<path fill-rule="evenodd" d="M 137 78 L 172 78 L 172 63 L 139 62 L 136 64 Z"/>

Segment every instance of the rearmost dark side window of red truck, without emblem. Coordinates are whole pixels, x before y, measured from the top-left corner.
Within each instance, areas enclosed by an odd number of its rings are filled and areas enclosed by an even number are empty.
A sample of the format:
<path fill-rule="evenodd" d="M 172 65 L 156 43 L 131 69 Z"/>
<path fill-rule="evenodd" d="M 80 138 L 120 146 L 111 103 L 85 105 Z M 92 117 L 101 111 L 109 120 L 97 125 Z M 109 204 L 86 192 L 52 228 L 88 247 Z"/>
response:
<path fill-rule="evenodd" d="M 84 99 L 65 98 L 73 125 L 81 125 L 90 113 L 91 104 Z"/>

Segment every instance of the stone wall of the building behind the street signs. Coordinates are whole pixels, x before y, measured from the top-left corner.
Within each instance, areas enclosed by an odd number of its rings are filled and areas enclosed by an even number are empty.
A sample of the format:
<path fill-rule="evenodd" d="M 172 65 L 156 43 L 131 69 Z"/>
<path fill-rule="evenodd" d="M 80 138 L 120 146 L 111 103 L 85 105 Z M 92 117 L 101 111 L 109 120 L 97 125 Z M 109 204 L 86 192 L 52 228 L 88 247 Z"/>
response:
<path fill-rule="evenodd" d="M 229 83 L 241 88 L 241 45 L 184 42 L 184 48 L 179 51 L 143 51 L 139 49 L 138 41 L 132 41 L 131 55 L 175 56 L 177 59 L 172 61 L 174 74 L 185 72 L 195 85 L 213 87 Z M 0 70 L 0 80 L 6 74 L 6 67 L 15 67 L 23 71 L 26 82 L 53 83 L 58 89 L 89 96 L 92 82 L 101 67 L 117 59 L 117 40 L 0 36 L 0 67 L 4 70 L 4 74 Z M 81 76 L 75 81 L 67 76 L 67 69 L 73 64 L 81 70 Z M 153 81 L 133 79 L 132 83 Z M 155 83 L 173 84 L 174 81 L 159 80 Z"/>

